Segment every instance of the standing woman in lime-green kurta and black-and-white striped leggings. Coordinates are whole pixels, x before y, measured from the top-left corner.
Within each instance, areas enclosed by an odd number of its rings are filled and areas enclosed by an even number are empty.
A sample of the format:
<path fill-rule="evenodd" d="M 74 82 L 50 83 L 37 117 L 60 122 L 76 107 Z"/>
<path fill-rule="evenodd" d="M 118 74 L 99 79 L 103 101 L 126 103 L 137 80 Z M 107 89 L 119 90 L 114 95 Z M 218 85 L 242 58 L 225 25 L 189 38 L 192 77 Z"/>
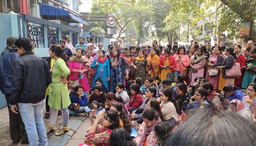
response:
<path fill-rule="evenodd" d="M 67 78 L 70 74 L 68 68 L 67 56 L 61 49 L 60 45 L 52 45 L 49 49 L 49 55 L 55 60 L 52 69 L 52 84 L 49 92 L 48 104 L 51 108 L 50 127 L 46 130 L 46 134 L 55 131 L 55 122 L 58 110 L 61 110 L 63 117 L 63 128 L 61 128 L 56 136 L 68 132 L 68 106 L 71 104 L 68 95 Z"/>

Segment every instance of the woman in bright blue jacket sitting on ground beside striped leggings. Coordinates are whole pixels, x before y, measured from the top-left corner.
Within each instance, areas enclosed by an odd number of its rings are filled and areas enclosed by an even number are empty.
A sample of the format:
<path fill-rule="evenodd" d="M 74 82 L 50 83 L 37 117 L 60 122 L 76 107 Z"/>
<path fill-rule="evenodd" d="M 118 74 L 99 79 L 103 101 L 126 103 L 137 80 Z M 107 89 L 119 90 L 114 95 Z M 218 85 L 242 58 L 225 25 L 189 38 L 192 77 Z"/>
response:
<path fill-rule="evenodd" d="M 71 104 L 68 107 L 69 115 L 84 116 L 84 107 L 87 105 L 87 94 L 83 92 L 82 86 L 76 86 L 75 92 L 69 94 Z M 79 108 L 75 110 L 79 104 Z"/>

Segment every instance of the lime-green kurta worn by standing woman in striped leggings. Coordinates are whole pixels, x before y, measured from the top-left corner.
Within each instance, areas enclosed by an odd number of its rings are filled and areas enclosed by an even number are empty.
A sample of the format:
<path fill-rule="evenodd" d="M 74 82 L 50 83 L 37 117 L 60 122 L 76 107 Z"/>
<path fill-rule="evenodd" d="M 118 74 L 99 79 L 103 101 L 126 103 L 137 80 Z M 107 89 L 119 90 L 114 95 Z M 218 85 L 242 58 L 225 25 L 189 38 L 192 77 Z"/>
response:
<path fill-rule="evenodd" d="M 62 97 L 63 108 L 66 108 L 71 104 L 67 83 L 64 85 L 62 82 L 59 82 L 61 76 L 67 77 L 69 74 L 70 70 L 65 61 L 62 58 L 57 59 L 57 61 L 54 62 L 52 70 L 52 84 L 48 101 L 50 108 L 60 110 L 60 97 Z"/>

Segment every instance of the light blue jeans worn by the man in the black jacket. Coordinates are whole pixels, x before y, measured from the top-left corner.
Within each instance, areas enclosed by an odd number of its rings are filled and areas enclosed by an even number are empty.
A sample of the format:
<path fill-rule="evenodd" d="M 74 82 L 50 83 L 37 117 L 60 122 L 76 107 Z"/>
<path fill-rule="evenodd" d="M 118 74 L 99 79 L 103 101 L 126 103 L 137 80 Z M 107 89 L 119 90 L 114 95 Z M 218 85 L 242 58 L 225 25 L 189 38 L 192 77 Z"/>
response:
<path fill-rule="evenodd" d="M 47 136 L 45 132 L 45 124 L 43 120 L 43 108 L 45 107 L 45 99 L 39 103 L 18 103 L 21 118 L 27 130 L 29 138 L 29 146 L 47 146 Z M 40 142 L 38 143 L 38 136 Z"/>

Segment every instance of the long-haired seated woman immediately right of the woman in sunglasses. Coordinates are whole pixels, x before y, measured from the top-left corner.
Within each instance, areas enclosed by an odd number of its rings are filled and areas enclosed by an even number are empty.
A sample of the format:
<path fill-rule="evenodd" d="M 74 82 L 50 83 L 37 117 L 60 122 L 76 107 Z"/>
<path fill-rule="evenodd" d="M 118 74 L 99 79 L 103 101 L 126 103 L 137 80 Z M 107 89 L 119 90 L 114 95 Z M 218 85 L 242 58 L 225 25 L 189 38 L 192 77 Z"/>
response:
<path fill-rule="evenodd" d="M 124 114 L 122 110 L 122 105 L 120 103 L 113 103 L 110 107 L 110 110 L 115 110 L 117 112 L 120 127 L 124 128 L 128 131 L 129 134 L 131 134 L 131 123 L 129 122 L 127 115 Z"/>

